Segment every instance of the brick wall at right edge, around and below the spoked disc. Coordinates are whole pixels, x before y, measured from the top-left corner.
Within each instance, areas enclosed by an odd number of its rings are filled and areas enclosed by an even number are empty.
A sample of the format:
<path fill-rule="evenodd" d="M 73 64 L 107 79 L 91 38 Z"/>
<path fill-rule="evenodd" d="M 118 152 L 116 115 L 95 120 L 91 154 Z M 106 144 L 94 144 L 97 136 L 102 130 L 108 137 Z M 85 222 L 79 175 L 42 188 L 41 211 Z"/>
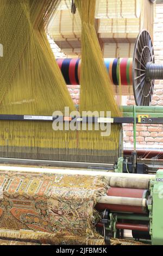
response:
<path fill-rule="evenodd" d="M 155 63 L 163 63 L 163 4 L 156 4 L 156 17 L 154 20 L 154 53 Z M 134 105 L 134 96 L 127 99 L 127 105 Z M 155 81 L 152 106 L 163 106 L 163 81 Z M 146 114 L 146 113 L 145 113 Z M 124 148 L 133 147 L 133 127 L 124 125 Z M 163 148 L 162 125 L 137 125 L 137 148 L 156 149 Z"/>

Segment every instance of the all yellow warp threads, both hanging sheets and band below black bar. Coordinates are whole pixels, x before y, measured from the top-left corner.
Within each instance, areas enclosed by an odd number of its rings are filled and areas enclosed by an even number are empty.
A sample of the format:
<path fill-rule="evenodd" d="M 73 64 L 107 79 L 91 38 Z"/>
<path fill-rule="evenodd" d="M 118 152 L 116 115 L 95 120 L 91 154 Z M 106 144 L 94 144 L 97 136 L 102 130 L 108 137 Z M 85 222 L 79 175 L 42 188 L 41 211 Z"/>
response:
<path fill-rule="evenodd" d="M 58 0 L 2 0 L 0 38 L 0 113 L 52 115 L 75 110 L 45 28 Z M 77 1 L 82 17 L 82 91 L 80 111 L 120 115 L 106 72 L 93 21 L 96 1 Z M 52 123 L 0 121 L 0 156 L 65 161 L 115 161 L 120 127 L 101 131 L 53 131 Z"/>

